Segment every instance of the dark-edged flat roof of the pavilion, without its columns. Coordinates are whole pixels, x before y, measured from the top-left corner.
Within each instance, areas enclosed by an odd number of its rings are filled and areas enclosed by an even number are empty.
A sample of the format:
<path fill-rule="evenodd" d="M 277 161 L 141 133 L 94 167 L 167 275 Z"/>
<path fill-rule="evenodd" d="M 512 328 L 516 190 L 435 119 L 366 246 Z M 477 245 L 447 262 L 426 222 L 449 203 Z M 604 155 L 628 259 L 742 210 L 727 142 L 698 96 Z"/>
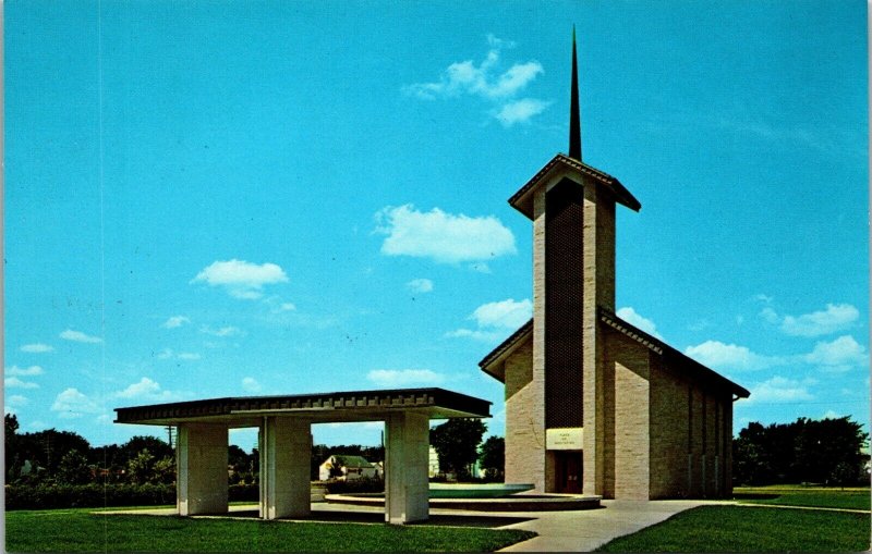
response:
<path fill-rule="evenodd" d="M 486 418 L 491 417 L 491 403 L 437 387 L 239 396 L 116 408 L 116 423 L 255 427 L 265 416 L 300 417 L 313 423 L 377 421 L 401 410 L 424 413 L 431 419 Z"/>

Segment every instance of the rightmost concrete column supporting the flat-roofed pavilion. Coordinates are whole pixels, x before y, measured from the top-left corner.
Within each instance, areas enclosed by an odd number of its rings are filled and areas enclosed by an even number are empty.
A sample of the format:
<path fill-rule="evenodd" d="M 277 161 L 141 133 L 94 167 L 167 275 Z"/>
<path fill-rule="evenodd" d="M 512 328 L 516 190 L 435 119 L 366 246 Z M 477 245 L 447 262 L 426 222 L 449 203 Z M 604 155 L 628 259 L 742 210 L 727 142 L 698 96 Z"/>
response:
<path fill-rule="evenodd" d="M 385 421 L 385 521 L 429 517 L 429 418 L 402 411 Z"/>

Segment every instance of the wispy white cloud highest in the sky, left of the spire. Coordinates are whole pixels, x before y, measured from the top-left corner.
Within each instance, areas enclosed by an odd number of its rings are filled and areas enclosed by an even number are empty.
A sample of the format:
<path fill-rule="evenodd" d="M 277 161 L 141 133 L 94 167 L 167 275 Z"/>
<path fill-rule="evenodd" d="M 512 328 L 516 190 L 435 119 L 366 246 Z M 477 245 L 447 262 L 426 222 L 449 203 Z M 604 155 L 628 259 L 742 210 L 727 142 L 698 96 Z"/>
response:
<path fill-rule="evenodd" d="M 455 62 L 443 72 L 438 81 L 416 83 L 404 87 L 404 90 L 426 100 L 456 98 L 463 95 L 485 99 L 496 104 L 497 108 L 492 113 L 506 126 L 526 121 L 542 112 L 548 102 L 534 98 L 512 100 L 516 95 L 545 72 L 542 64 L 531 60 L 514 63 L 507 70 L 500 71 L 502 50 L 514 47 L 514 44 L 493 35 L 488 35 L 487 41 L 491 49 L 477 65 L 472 60 Z"/>

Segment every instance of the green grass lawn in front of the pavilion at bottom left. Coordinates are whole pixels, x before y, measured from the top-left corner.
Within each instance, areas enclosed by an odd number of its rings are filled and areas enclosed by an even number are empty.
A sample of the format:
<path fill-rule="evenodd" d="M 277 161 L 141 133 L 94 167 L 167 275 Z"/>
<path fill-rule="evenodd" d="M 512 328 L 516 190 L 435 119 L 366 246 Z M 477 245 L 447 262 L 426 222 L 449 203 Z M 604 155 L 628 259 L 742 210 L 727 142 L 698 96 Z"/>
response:
<path fill-rule="evenodd" d="M 101 515 L 89 509 L 8 512 L 5 524 L 9 552 L 491 552 L 535 535 L 426 525 Z"/>

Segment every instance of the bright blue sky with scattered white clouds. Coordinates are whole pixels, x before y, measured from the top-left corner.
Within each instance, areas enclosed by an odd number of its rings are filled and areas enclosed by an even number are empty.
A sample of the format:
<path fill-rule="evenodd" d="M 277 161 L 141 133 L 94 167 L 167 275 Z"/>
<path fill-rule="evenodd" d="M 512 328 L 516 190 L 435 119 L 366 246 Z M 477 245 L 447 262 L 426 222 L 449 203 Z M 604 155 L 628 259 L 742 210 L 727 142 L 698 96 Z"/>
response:
<path fill-rule="evenodd" d="M 737 431 L 868 422 L 865 11 L 8 1 L 5 410 L 104 444 L 162 433 L 120 406 L 444 386 L 502 434 L 477 361 L 531 313 L 506 200 L 567 149 L 574 24 L 584 161 L 642 202 L 619 313 L 749 389 Z"/>

